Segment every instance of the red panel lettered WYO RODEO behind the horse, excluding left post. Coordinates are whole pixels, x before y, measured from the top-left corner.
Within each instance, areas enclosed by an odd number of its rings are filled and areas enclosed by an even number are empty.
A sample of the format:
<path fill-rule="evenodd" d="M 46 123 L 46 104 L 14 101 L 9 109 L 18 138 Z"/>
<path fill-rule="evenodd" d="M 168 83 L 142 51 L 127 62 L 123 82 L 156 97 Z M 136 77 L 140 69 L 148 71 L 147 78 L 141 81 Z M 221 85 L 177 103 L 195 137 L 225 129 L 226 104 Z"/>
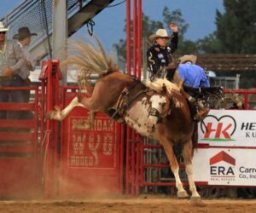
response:
<path fill-rule="evenodd" d="M 62 87 L 61 106 L 77 95 Z M 75 130 L 74 124 L 88 118 L 89 111 L 76 107 L 61 124 L 61 195 L 122 193 L 123 127 L 97 113 L 91 130 Z"/>

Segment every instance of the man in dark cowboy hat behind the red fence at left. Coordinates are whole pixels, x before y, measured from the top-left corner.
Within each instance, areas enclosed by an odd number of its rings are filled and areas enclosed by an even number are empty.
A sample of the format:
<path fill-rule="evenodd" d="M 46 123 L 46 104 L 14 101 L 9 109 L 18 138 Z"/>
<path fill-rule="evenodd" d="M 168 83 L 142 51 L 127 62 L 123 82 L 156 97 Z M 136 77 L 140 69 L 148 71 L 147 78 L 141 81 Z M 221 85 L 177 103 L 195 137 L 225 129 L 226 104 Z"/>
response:
<path fill-rule="evenodd" d="M 18 39 L 18 44 L 25 55 L 26 63 L 20 68 L 19 76 L 24 81 L 24 86 L 28 87 L 31 84 L 30 79 L 28 78 L 31 71 L 35 70 L 35 60 L 32 59 L 27 47 L 31 42 L 32 36 L 37 36 L 37 33 L 31 33 L 28 27 L 20 27 L 17 34 L 14 35 L 14 39 Z M 30 90 L 23 90 L 24 100 L 29 102 Z"/>

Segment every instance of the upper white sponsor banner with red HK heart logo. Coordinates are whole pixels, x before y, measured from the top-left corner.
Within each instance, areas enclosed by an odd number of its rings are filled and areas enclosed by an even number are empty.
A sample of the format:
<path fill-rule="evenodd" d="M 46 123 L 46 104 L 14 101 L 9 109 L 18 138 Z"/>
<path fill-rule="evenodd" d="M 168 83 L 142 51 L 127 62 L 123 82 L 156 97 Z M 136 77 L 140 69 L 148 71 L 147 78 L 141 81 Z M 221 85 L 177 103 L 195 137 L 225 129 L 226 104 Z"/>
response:
<path fill-rule="evenodd" d="M 198 124 L 198 143 L 223 147 L 256 147 L 256 111 L 211 110 Z"/>

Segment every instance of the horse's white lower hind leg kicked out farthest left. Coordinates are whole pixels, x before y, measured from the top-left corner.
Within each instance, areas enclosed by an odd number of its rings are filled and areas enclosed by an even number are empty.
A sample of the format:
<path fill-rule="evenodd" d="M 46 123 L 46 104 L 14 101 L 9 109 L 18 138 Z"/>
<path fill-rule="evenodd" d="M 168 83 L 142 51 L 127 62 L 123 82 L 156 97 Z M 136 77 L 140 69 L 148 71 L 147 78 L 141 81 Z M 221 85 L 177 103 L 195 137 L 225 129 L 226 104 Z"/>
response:
<path fill-rule="evenodd" d="M 73 100 L 61 111 L 61 107 L 55 106 L 55 110 L 47 112 L 47 118 L 52 120 L 62 121 L 67 117 L 68 113 L 73 110 L 74 107 L 84 107 L 83 104 L 79 103 L 78 97 L 74 97 Z"/>

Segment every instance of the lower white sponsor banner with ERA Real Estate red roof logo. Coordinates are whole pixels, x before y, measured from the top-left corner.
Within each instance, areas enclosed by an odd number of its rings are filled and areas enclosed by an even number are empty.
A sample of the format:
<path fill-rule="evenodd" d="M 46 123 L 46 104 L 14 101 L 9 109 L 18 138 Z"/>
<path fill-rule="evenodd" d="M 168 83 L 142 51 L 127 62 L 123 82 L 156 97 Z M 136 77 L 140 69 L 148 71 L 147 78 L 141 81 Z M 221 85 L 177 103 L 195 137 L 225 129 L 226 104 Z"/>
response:
<path fill-rule="evenodd" d="M 209 185 L 256 186 L 256 149 L 199 148 L 193 158 L 195 181 Z"/>

